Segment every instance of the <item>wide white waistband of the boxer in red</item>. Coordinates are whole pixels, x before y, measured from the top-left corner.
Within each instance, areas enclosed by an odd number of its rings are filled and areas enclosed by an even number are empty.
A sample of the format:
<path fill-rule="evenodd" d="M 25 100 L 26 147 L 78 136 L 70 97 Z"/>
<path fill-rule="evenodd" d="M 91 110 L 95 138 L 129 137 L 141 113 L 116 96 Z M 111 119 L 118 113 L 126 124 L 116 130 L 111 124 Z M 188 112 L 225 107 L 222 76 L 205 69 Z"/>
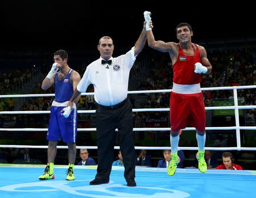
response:
<path fill-rule="evenodd" d="M 179 85 L 174 83 L 172 91 L 177 94 L 197 94 L 201 92 L 200 83 L 192 85 Z"/>

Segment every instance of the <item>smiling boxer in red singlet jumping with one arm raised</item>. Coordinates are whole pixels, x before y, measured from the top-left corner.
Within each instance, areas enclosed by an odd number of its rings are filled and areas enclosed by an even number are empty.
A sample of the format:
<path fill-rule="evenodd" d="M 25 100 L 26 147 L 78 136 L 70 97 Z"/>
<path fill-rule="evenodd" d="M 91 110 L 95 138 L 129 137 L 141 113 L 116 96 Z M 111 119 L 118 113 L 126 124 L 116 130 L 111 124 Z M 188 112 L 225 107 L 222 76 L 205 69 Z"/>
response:
<path fill-rule="evenodd" d="M 199 170 L 206 172 L 207 163 L 204 159 L 205 107 L 200 82 L 202 74 L 209 74 L 212 71 L 212 65 L 207 58 L 204 47 L 191 42 L 193 31 L 188 23 L 180 23 L 176 27 L 176 36 L 179 43 L 155 41 L 150 15 L 150 12 L 144 12 L 144 18 L 147 22 L 148 46 L 160 52 L 168 52 L 174 70 L 174 85 L 170 98 L 172 160 L 168 166 L 168 175 L 174 175 L 176 172 L 179 131 L 187 125 L 196 128 L 196 139 L 199 148 L 196 157 L 199 161 Z"/>

